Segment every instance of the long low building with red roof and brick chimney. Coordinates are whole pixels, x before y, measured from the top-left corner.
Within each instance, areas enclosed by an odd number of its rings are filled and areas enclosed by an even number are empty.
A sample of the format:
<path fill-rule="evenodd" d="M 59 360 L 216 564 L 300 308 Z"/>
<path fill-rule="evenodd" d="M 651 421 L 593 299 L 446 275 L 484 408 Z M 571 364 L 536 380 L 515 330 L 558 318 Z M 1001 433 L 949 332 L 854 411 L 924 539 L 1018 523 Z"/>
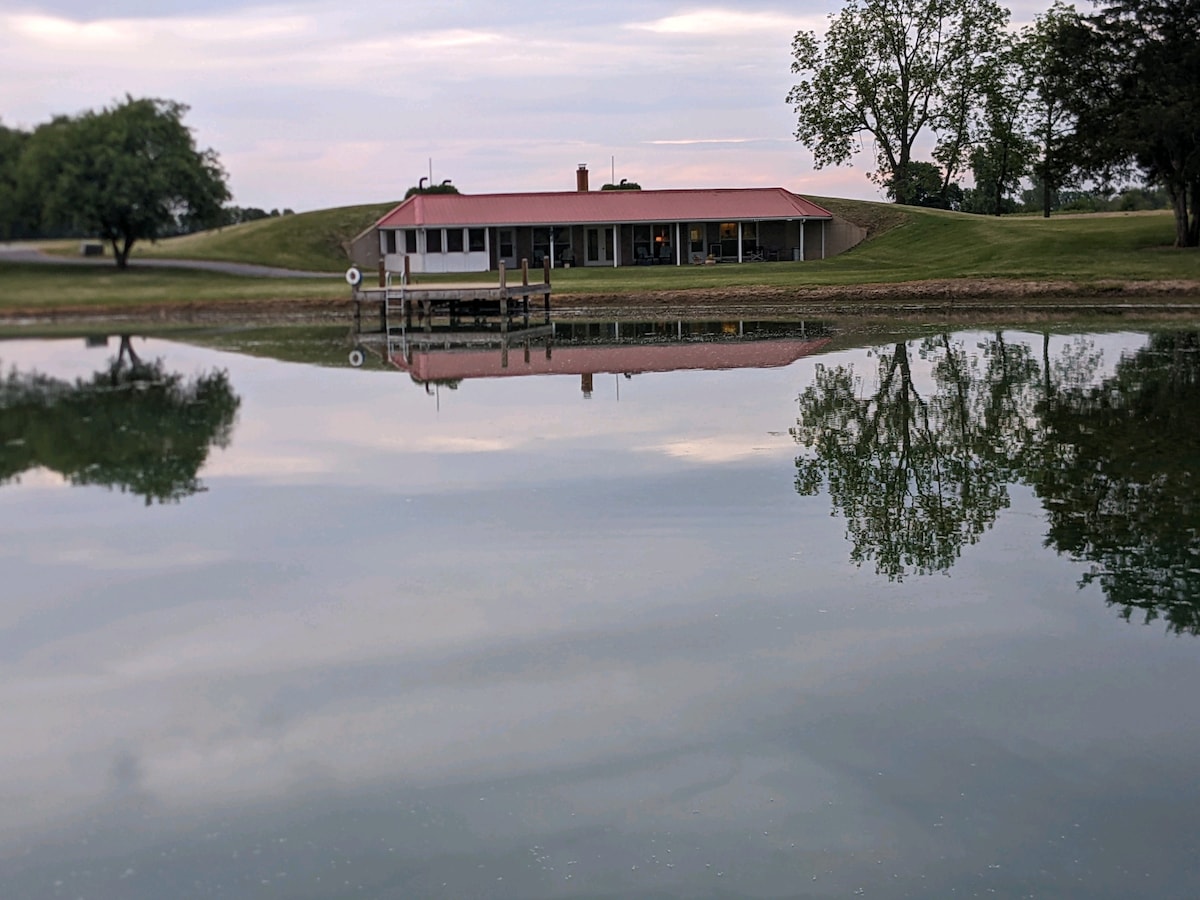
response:
<path fill-rule="evenodd" d="M 481 272 L 541 266 L 823 259 L 865 230 L 782 187 L 414 194 L 352 244 L 359 265 Z"/>

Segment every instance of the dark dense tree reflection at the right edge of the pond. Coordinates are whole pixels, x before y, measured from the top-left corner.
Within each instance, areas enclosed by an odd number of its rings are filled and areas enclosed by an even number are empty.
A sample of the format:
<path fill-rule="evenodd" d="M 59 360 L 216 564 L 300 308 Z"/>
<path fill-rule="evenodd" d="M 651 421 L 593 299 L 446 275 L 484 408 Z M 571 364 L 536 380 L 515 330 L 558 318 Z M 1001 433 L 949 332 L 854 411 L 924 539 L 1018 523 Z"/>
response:
<path fill-rule="evenodd" d="M 1084 583 L 1124 618 L 1200 635 L 1200 338 L 1156 335 L 1040 412 L 1052 452 L 1028 474 L 1048 544 L 1090 563 Z"/>

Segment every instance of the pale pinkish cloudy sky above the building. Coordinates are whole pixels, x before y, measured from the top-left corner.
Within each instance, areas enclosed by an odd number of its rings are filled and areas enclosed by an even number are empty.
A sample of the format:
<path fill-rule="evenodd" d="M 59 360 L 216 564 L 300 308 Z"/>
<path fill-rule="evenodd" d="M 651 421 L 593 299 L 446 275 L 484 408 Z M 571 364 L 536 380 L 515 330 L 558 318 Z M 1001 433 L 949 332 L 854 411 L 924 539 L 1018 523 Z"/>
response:
<path fill-rule="evenodd" d="M 1048 2 L 1009 4 L 1014 23 Z M 883 199 L 815 169 L 786 102 L 797 30 L 835 0 L 16 0 L 0 10 L 0 121 L 32 128 L 126 94 L 186 103 L 234 203 L 305 211 L 466 193 L 780 186 Z M 868 148 L 869 150 L 869 148 Z"/>

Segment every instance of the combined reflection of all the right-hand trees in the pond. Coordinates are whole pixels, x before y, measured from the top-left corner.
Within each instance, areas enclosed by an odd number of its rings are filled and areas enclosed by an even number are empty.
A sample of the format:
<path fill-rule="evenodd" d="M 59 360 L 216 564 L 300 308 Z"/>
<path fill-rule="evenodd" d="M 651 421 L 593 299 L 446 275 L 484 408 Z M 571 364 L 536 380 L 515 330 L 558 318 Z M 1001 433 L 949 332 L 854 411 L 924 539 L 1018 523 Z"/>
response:
<path fill-rule="evenodd" d="M 851 559 L 900 581 L 949 570 L 1028 485 L 1048 546 L 1091 564 L 1081 583 L 1127 619 L 1200 634 L 1196 335 L 1153 336 L 1099 383 L 1090 341 L 1049 346 L 899 341 L 875 350 L 870 384 L 818 366 L 792 428 L 796 490 L 827 490 Z"/>

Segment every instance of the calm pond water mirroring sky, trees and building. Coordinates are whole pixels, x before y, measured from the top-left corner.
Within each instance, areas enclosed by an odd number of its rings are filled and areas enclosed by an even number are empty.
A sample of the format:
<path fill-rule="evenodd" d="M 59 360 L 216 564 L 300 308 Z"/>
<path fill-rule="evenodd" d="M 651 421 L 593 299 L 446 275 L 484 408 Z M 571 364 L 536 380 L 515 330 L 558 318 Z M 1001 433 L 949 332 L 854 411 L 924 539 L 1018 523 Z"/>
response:
<path fill-rule="evenodd" d="M 0 343 L 0 896 L 1200 894 L 1196 337 L 648 330 Z"/>

